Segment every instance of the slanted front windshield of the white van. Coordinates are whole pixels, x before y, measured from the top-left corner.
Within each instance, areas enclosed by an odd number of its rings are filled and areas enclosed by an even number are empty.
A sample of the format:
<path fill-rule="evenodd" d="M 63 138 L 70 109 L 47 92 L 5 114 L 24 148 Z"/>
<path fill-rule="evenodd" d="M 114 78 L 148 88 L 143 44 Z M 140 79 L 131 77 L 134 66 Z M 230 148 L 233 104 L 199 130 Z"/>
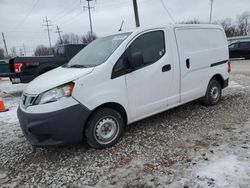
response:
<path fill-rule="evenodd" d="M 131 33 L 99 38 L 73 57 L 66 67 L 86 68 L 104 63 Z"/>

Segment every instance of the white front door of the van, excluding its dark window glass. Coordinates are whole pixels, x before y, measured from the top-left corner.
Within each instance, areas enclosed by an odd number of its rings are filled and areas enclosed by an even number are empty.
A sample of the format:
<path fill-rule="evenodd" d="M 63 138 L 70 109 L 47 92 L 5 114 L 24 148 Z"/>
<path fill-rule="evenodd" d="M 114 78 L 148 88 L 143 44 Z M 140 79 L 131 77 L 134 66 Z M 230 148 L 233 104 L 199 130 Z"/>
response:
<path fill-rule="evenodd" d="M 147 32 L 162 31 L 165 36 L 165 44 L 169 44 L 165 28 L 158 28 L 141 32 L 139 37 Z M 129 46 L 134 40 L 130 41 Z M 166 109 L 168 106 L 169 90 L 172 85 L 173 74 L 162 72 L 164 65 L 172 66 L 172 59 L 168 52 L 168 46 L 165 45 L 165 54 L 157 62 L 148 65 L 142 69 L 136 70 L 125 75 L 129 111 L 131 120 L 135 121 L 141 117 Z"/>

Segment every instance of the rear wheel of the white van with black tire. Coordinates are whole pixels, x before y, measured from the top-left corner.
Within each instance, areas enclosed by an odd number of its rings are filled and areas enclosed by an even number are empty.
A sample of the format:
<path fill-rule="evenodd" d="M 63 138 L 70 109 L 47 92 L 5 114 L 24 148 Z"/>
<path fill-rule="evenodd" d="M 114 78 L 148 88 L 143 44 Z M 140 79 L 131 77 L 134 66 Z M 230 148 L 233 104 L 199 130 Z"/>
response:
<path fill-rule="evenodd" d="M 217 80 L 211 80 L 207 87 L 207 92 L 203 98 L 203 103 L 206 106 L 218 104 L 221 99 L 221 85 Z"/>

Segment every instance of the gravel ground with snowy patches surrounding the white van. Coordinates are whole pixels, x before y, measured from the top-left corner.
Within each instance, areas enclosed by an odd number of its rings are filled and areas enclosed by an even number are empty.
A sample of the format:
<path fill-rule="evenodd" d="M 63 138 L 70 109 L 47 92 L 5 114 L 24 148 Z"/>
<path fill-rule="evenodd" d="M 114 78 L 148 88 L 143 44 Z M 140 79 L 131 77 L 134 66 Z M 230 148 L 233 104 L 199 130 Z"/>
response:
<path fill-rule="evenodd" d="M 105 150 L 83 143 L 33 151 L 16 118 L 20 92 L 0 81 L 10 109 L 0 113 L 0 186 L 249 187 L 250 62 L 233 68 L 217 106 L 191 102 L 134 123 Z"/>

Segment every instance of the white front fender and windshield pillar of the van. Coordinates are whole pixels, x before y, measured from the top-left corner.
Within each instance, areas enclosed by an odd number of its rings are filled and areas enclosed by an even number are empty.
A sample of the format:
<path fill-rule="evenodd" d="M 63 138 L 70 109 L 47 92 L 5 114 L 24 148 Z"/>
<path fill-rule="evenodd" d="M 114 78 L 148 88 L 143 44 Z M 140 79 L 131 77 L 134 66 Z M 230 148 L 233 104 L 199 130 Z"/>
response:
<path fill-rule="evenodd" d="M 130 119 L 125 77 L 111 79 L 111 74 L 114 64 L 126 50 L 126 44 L 134 35 L 136 34 L 130 35 L 105 63 L 95 67 L 94 74 L 79 77 L 75 81 L 73 97 L 77 101 L 90 110 L 106 103 L 117 103 L 125 109 Z"/>

